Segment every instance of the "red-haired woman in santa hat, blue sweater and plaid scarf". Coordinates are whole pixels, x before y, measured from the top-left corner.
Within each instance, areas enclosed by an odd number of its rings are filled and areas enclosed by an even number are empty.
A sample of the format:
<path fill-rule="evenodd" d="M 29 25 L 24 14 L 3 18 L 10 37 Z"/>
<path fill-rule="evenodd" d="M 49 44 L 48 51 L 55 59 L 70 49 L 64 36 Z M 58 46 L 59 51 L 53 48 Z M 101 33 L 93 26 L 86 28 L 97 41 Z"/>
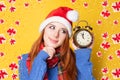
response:
<path fill-rule="evenodd" d="M 78 12 L 59 7 L 51 11 L 40 25 L 40 36 L 31 51 L 19 61 L 20 80 L 94 80 L 91 48 L 69 45 L 72 23 Z"/>

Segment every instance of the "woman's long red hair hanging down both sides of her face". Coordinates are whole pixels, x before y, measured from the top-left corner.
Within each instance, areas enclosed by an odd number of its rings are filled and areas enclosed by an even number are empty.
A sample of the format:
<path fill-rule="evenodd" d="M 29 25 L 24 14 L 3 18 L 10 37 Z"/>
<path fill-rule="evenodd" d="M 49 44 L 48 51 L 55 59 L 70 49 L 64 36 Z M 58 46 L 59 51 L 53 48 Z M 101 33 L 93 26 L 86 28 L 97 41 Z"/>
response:
<path fill-rule="evenodd" d="M 32 67 L 33 60 L 40 51 L 39 48 L 41 43 L 43 43 L 43 35 L 44 35 L 44 31 L 40 34 L 40 36 L 33 44 L 29 52 L 29 57 L 31 60 L 30 68 Z M 73 53 L 72 49 L 69 47 L 69 36 L 65 38 L 64 43 L 60 47 L 60 57 L 61 57 L 63 71 L 66 72 L 65 80 L 76 80 L 77 78 L 76 60 L 75 60 L 75 54 Z"/>

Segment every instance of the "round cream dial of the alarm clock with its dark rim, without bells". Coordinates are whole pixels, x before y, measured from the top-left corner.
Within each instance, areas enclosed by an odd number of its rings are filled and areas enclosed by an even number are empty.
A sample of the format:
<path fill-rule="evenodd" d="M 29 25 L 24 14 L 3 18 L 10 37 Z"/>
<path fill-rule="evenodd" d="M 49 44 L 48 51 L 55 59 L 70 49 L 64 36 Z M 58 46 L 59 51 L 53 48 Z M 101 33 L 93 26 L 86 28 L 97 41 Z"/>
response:
<path fill-rule="evenodd" d="M 88 47 L 93 40 L 92 34 L 88 30 L 80 30 L 75 36 L 76 43 L 81 47 Z"/>

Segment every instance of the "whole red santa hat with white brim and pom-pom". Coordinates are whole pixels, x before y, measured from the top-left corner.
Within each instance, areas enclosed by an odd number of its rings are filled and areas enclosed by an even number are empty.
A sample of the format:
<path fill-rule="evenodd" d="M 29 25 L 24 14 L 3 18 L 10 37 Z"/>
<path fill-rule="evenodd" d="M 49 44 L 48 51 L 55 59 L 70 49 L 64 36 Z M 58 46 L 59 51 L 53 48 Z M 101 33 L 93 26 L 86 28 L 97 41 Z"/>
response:
<path fill-rule="evenodd" d="M 68 7 L 59 7 L 48 14 L 46 19 L 41 23 L 39 30 L 41 32 L 51 22 L 59 22 L 67 28 L 70 37 L 72 35 L 72 22 L 77 21 L 78 17 L 77 11 Z"/>

